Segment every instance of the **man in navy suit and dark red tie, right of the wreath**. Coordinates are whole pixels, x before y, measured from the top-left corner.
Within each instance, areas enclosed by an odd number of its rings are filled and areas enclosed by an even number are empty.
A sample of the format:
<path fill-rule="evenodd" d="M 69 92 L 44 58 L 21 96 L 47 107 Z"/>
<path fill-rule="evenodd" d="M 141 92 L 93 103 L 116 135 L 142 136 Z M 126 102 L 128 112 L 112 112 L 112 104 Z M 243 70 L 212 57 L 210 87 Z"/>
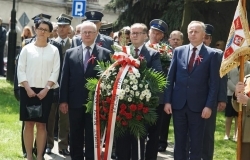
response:
<path fill-rule="evenodd" d="M 175 48 L 168 73 L 164 110 L 173 113 L 175 160 L 201 159 L 205 119 L 211 116 L 217 102 L 218 53 L 203 44 L 204 36 L 204 23 L 192 21 L 188 25 L 190 44 Z M 187 138 L 191 148 L 189 157 Z"/>

